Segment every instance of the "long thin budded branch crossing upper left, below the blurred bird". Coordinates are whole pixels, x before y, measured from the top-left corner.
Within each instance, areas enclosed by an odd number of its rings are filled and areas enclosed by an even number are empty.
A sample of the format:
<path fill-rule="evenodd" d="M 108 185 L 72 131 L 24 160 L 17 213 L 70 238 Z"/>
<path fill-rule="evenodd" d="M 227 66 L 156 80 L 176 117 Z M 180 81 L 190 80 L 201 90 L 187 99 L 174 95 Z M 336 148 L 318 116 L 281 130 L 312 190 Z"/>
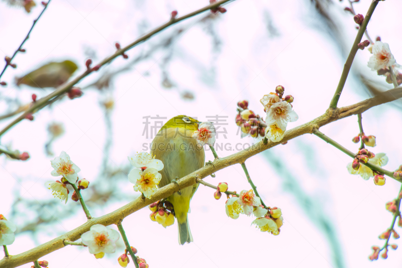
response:
<path fill-rule="evenodd" d="M 133 43 L 127 45 L 126 47 L 117 50 L 113 55 L 105 58 L 103 61 L 99 62 L 96 66 L 101 67 L 104 66 L 105 64 L 111 62 L 112 60 L 114 60 L 115 58 L 121 56 L 124 52 L 128 51 L 129 49 L 135 47 L 136 45 L 146 41 L 147 39 L 149 39 L 151 36 L 159 33 L 160 31 L 168 28 L 169 26 L 176 24 L 180 21 L 183 21 L 185 19 L 191 18 L 195 15 L 198 15 L 200 13 L 203 13 L 205 11 L 208 11 L 210 9 L 214 9 L 216 7 L 219 7 L 227 2 L 230 2 L 233 0 L 221 0 L 218 1 L 216 3 L 213 3 L 211 5 L 208 5 L 204 8 L 201 8 L 199 10 L 196 10 L 194 12 L 188 13 L 187 15 L 184 15 L 182 17 L 176 18 L 176 19 L 171 19 L 170 21 L 168 21 L 167 23 L 159 26 L 158 28 L 152 30 L 151 32 L 147 33 L 146 35 L 138 38 L 137 40 L 135 40 Z M 21 116 L 19 116 L 18 118 L 16 118 L 13 122 L 11 122 L 9 125 L 7 125 L 2 131 L 0 131 L 0 136 L 2 136 L 6 131 L 8 131 L 10 128 L 12 128 L 14 125 L 16 125 L 17 123 L 19 123 L 20 121 L 22 121 L 23 119 L 25 119 L 25 116 L 29 113 L 33 113 L 34 111 L 37 112 L 38 110 L 42 109 L 43 107 L 45 107 L 47 105 L 47 102 L 50 101 L 51 99 L 66 93 L 67 91 L 70 90 L 70 88 L 75 85 L 76 83 L 78 83 L 82 78 L 84 78 L 85 76 L 87 76 L 89 73 L 91 73 L 92 70 L 86 70 L 83 73 L 81 73 L 80 75 L 78 75 L 77 77 L 75 77 L 73 80 L 71 80 L 68 83 L 65 83 L 61 86 L 59 86 L 55 91 L 53 91 L 52 93 L 50 93 L 49 95 L 43 97 L 42 99 L 38 100 L 36 102 L 35 105 L 33 105 L 31 108 L 29 108 L 24 114 L 22 114 Z"/>

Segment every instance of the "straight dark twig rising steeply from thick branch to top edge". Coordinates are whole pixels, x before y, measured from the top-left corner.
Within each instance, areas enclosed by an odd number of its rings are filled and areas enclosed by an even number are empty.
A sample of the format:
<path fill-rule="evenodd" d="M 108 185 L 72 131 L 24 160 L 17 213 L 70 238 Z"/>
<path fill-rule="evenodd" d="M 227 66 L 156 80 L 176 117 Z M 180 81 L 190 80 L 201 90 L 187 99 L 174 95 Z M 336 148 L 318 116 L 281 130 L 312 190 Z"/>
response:
<path fill-rule="evenodd" d="M 359 44 L 361 42 L 361 38 L 363 37 L 364 31 L 367 28 L 368 21 L 370 20 L 371 15 L 373 14 L 374 9 L 377 6 L 377 4 L 378 4 L 378 1 L 376 1 L 376 0 L 373 0 L 371 2 L 371 5 L 368 8 L 366 17 L 364 18 L 363 23 L 360 25 L 359 31 L 357 31 L 355 42 L 353 43 L 352 48 L 350 49 L 349 56 L 345 62 L 345 66 L 343 67 L 342 75 L 341 75 L 341 78 L 339 79 L 338 87 L 336 88 L 334 97 L 332 98 L 330 108 L 336 108 L 338 105 L 338 101 L 339 101 L 339 98 L 341 97 L 343 87 L 345 86 L 346 78 L 348 78 L 350 67 L 352 66 L 353 59 L 355 58 L 357 50 L 359 49 L 357 44 Z"/>

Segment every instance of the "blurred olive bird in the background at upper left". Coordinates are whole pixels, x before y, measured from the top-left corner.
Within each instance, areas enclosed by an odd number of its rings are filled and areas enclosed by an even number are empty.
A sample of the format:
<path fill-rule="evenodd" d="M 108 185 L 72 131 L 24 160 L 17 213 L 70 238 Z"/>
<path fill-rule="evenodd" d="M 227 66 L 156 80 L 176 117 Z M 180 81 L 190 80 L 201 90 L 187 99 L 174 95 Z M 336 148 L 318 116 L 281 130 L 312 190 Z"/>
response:
<path fill-rule="evenodd" d="M 77 69 L 77 64 L 71 60 L 49 62 L 23 77 L 16 77 L 16 83 L 40 88 L 57 87 L 65 83 Z"/>

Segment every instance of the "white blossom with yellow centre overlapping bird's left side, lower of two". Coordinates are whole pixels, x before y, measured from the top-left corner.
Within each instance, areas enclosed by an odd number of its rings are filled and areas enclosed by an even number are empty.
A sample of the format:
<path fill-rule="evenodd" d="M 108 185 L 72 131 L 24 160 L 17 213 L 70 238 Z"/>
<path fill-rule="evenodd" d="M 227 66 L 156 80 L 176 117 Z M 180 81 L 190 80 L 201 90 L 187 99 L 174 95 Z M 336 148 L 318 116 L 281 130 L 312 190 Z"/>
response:
<path fill-rule="evenodd" d="M 146 198 L 151 196 L 158 190 L 162 175 L 155 168 L 147 168 L 144 171 L 141 169 L 133 169 L 129 173 L 129 181 L 134 184 L 134 191 L 139 191 Z"/>

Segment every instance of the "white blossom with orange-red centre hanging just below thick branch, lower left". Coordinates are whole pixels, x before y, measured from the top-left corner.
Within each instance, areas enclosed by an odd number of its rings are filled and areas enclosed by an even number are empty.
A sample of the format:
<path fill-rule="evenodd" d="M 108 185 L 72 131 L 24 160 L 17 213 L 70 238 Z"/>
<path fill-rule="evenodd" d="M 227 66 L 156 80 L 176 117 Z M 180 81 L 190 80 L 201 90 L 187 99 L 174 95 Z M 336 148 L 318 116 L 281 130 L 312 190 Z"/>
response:
<path fill-rule="evenodd" d="M 82 243 L 88 246 L 91 254 L 115 253 L 116 241 L 119 237 L 118 231 L 108 229 L 102 224 L 92 225 L 89 231 L 81 234 Z"/>

